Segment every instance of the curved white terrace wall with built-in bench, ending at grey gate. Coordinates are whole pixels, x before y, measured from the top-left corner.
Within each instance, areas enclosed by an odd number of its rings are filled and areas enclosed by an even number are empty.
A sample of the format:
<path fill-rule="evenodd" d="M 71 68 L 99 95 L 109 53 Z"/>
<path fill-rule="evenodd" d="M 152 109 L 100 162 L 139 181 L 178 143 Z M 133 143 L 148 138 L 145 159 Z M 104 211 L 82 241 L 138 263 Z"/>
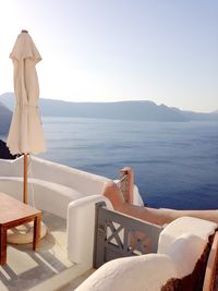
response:
<path fill-rule="evenodd" d="M 68 256 L 74 263 L 93 265 L 95 203 L 105 201 L 105 177 L 80 171 L 36 157 L 31 158 L 28 204 L 66 219 Z M 0 191 L 22 201 L 23 157 L 0 159 Z M 34 194 L 34 195 L 33 195 Z M 136 204 L 142 198 L 135 186 Z"/>

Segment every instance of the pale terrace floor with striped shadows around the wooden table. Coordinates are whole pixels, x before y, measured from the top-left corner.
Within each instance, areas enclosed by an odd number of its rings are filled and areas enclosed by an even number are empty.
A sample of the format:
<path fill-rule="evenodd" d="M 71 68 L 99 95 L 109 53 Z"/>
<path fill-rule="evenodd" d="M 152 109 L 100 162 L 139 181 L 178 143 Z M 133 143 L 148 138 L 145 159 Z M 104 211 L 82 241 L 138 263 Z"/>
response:
<path fill-rule="evenodd" d="M 43 214 L 43 221 L 48 233 L 37 252 L 32 244 L 8 244 L 7 264 L 0 267 L 0 291 L 74 290 L 93 271 L 68 259 L 66 221 L 48 213 Z"/>

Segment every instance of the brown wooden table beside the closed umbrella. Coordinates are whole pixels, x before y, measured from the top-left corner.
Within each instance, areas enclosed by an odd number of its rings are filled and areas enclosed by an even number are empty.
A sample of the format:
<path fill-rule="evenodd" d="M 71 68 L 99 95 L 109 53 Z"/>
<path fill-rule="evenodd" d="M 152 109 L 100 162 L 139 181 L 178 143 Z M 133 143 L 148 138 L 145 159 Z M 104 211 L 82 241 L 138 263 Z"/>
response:
<path fill-rule="evenodd" d="M 7 230 L 34 221 L 33 250 L 40 243 L 41 211 L 0 192 L 0 265 L 7 263 Z"/>

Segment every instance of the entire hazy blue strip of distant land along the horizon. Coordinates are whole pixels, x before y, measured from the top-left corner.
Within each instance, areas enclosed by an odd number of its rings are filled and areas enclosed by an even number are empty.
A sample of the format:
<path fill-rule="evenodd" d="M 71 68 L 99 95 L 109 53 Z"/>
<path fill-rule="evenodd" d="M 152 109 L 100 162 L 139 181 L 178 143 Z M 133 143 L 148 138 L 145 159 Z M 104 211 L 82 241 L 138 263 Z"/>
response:
<path fill-rule="evenodd" d="M 13 93 L 0 95 L 1 129 L 5 132 L 9 128 L 11 111 L 14 106 Z M 40 99 L 41 116 L 76 117 L 95 119 L 141 120 L 161 122 L 185 122 L 192 120 L 217 120 L 218 110 L 211 113 L 198 113 L 156 105 L 153 101 L 117 101 L 117 102 L 69 102 L 52 99 Z M 8 108 L 8 109 L 7 109 Z M 4 113 L 3 113 L 4 112 Z"/>

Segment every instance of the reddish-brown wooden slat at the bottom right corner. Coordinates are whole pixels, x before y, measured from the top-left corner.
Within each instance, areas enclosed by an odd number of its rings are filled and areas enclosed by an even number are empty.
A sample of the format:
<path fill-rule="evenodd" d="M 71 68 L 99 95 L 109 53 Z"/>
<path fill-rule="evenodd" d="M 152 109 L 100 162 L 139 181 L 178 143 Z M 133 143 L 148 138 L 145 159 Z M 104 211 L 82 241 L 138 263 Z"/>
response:
<path fill-rule="evenodd" d="M 211 250 L 209 252 L 203 291 L 213 291 L 216 278 L 216 271 L 218 270 L 217 263 L 218 263 L 218 232 L 215 233 Z"/>

